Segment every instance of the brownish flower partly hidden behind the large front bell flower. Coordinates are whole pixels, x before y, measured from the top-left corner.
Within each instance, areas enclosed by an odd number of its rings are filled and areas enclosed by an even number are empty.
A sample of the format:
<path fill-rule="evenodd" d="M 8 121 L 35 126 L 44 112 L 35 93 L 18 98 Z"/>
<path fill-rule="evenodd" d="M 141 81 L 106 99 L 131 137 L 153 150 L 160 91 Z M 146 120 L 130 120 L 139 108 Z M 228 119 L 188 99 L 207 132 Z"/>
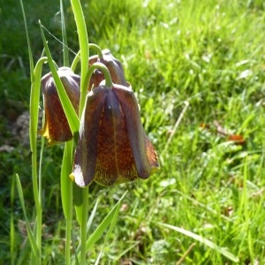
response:
<path fill-rule="evenodd" d="M 119 60 L 117 60 L 117 58 L 113 57 L 113 55 L 110 53 L 110 49 L 103 49 L 102 57 L 98 56 L 89 57 L 89 64 L 92 65 L 95 63 L 102 63 L 108 68 L 112 82 L 114 84 L 123 85 L 125 87 L 130 86 L 125 79 L 125 72 L 123 65 Z M 96 69 L 90 79 L 88 91 L 91 90 L 92 86 L 98 87 L 103 79 L 104 79 L 103 73 L 100 70 Z"/>

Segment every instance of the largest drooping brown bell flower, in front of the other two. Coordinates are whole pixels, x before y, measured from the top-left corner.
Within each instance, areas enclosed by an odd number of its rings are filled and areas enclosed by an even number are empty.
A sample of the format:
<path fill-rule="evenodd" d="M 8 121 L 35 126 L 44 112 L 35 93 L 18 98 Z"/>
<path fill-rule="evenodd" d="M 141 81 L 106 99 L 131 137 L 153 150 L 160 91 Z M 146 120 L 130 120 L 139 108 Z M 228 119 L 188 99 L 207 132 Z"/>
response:
<path fill-rule="evenodd" d="M 101 85 L 87 94 L 70 178 L 84 187 L 148 178 L 159 168 L 131 87 Z"/>

